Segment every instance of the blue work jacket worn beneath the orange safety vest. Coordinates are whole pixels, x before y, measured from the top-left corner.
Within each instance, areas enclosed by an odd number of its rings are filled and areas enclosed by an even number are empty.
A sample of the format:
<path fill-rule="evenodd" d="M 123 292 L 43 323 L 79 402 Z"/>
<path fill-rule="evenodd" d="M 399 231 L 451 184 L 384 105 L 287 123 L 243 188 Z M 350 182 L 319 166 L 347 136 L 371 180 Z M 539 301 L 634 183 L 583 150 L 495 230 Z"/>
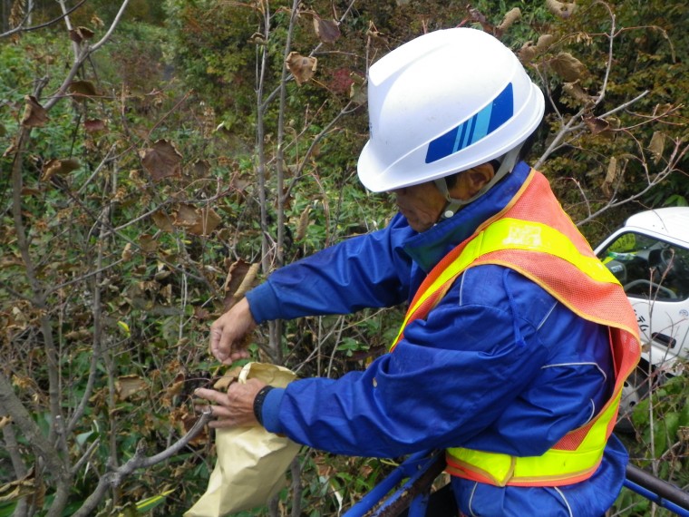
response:
<path fill-rule="evenodd" d="M 417 233 L 395 216 L 275 271 L 247 293 L 257 322 L 346 314 L 409 302 L 433 266 L 502 210 L 529 173 L 519 165 L 479 200 Z M 607 328 L 571 312 L 516 271 L 464 271 L 392 353 L 339 379 L 306 378 L 268 393 L 268 431 L 335 454 L 399 457 L 466 447 L 512 455 L 546 452 L 587 423 L 612 392 Z M 467 515 L 599 517 L 625 478 L 626 451 L 612 438 L 587 481 L 504 488 L 452 478 Z"/>

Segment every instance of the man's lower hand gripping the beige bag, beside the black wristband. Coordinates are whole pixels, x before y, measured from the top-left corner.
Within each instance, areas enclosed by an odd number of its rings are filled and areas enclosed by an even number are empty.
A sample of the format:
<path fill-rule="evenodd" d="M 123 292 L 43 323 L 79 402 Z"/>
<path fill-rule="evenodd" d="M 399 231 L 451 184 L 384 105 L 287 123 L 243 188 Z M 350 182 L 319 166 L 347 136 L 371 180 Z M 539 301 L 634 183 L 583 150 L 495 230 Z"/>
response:
<path fill-rule="evenodd" d="M 217 418 L 209 423 L 210 427 L 258 425 L 254 415 L 254 399 L 265 385 L 258 379 L 249 379 L 247 384 L 232 383 L 228 387 L 228 393 L 199 388 L 194 395 L 208 400 L 211 405 L 197 405 L 196 408 L 199 411 L 210 408 L 211 415 Z"/>

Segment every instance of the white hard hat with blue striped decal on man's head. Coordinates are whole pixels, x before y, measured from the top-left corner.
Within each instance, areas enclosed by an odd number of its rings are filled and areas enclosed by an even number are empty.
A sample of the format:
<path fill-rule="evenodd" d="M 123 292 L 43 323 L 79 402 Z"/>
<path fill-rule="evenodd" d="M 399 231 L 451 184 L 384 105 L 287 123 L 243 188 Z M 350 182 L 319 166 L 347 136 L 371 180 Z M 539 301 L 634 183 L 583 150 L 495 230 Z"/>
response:
<path fill-rule="evenodd" d="M 380 192 L 466 171 L 518 147 L 543 110 L 543 93 L 490 34 L 424 34 L 371 66 L 359 179 Z"/>

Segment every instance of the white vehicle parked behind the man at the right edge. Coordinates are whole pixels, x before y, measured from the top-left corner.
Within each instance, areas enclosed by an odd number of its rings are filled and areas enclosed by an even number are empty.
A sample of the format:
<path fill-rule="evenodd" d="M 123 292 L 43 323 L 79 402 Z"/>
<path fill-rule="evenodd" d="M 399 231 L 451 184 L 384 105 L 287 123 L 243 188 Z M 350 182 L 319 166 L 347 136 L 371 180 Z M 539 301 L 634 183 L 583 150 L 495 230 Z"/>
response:
<path fill-rule="evenodd" d="M 642 342 L 639 367 L 623 391 L 624 430 L 649 386 L 682 375 L 689 361 L 689 207 L 637 213 L 596 254 L 625 288 Z"/>

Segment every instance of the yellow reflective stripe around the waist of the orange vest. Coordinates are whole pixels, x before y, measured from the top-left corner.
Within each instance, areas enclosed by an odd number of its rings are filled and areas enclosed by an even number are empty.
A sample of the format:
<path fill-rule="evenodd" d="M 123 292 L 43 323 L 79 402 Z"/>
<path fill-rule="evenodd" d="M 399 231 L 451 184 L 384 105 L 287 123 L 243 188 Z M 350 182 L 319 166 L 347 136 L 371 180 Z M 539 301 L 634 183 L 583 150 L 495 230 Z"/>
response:
<path fill-rule="evenodd" d="M 607 442 L 607 426 L 616 415 L 621 392 L 607 404 L 575 451 L 549 449 L 540 456 L 510 456 L 455 447 L 447 450 L 462 467 L 479 472 L 496 486 L 555 482 L 597 468 Z"/>

